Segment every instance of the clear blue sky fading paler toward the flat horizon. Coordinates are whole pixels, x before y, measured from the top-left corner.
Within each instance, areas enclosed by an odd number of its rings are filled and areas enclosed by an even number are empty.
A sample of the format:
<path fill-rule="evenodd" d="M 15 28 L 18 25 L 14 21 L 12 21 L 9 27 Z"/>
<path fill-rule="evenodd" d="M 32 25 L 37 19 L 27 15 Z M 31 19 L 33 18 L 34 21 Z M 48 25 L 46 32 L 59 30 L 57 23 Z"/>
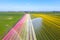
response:
<path fill-rule="evenodd" d="M 60 0 L 0 0 L 0 11 L 60 11 Z"/>

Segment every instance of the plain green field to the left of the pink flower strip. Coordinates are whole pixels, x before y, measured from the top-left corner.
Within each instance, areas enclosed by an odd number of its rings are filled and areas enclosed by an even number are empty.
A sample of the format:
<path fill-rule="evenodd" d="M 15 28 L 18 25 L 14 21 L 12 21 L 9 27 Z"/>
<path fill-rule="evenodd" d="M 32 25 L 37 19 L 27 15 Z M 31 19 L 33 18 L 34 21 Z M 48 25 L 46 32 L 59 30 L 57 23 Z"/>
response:
<path fill-rule="evenodd" d="M 23 17 L 21 12 L 0 12 L 0 40 Z"/>

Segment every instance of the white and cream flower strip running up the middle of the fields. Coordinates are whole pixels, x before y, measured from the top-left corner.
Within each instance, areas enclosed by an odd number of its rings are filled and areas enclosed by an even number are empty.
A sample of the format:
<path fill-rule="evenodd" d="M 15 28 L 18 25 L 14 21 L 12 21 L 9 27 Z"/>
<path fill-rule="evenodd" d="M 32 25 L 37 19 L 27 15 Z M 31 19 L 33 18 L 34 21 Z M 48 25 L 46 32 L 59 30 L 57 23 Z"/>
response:
<path fill-rule="evenodd" d="M 34 32 L 34 28 L 33 28 L 33 24 L 32 24 L 30 14 L 28 14 L 28 17 L 29 17 L 28 18 L 28 29 L 29 29 L 28 40 L 36 40 L 36 35 L 35 35 L 35 32 Z"/>

